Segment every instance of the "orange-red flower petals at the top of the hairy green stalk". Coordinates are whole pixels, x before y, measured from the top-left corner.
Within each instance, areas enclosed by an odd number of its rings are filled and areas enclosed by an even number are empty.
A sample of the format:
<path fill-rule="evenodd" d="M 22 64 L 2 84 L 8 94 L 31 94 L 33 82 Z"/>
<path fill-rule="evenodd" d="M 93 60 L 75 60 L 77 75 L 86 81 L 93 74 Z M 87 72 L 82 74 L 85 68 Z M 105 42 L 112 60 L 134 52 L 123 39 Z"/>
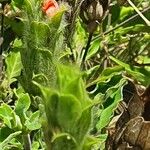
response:
<path fill-rule="evenodd" d="M 42 6 L 43 12 L 49 17 L 54 16 L 58 9 L 58 3 L 55 0 L 45 0 Z"/>

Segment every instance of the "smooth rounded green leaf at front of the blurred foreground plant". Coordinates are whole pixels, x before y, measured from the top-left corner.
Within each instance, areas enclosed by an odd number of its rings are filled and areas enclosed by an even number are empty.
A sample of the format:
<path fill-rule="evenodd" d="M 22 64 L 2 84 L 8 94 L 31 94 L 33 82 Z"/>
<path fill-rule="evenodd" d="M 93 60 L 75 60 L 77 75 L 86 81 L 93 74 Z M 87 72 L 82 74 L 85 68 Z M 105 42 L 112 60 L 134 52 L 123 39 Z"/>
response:
<path fill-rule="evenodd" d="M 62 129 L 69 132 L 81 116 L 81 104 L 72 95 L 62 95 L 59 97 L 56 113 Z"/>

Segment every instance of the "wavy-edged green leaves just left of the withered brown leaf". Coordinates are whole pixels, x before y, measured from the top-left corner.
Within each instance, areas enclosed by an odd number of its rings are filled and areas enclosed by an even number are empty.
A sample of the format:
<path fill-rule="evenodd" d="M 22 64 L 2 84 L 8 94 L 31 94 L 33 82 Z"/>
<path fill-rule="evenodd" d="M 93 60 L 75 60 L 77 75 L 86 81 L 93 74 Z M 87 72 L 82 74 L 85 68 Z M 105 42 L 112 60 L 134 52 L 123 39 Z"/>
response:
<path fill-rule="evenodd" d="M 97 80 L 88 85 L 97 85 L 90 95 L 99 102 L 99 105 L 93 110 L 93 128 L 96 128 L 98 132 L 101 132 L 109 124 L 114 111 L 122 100 L 122 87 L 126 80 L 122 78 L 121 71 L 123 71 L 123 67 L 107 68 Z"/>

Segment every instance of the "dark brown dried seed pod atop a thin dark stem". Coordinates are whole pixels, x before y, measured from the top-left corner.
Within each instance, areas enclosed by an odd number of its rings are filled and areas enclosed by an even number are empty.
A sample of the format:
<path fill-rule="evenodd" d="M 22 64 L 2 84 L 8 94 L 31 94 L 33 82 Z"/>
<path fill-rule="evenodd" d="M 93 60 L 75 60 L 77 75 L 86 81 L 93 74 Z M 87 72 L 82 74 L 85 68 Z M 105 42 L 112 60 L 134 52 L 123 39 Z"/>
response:
<path fill-rule="evenodd" d="M 95 31 L 97 23 L 100 23 L 108 9 L 108 0 L 84 0 L 81 9 L 80 17 L 87 25 L 89 33 Z"/>

